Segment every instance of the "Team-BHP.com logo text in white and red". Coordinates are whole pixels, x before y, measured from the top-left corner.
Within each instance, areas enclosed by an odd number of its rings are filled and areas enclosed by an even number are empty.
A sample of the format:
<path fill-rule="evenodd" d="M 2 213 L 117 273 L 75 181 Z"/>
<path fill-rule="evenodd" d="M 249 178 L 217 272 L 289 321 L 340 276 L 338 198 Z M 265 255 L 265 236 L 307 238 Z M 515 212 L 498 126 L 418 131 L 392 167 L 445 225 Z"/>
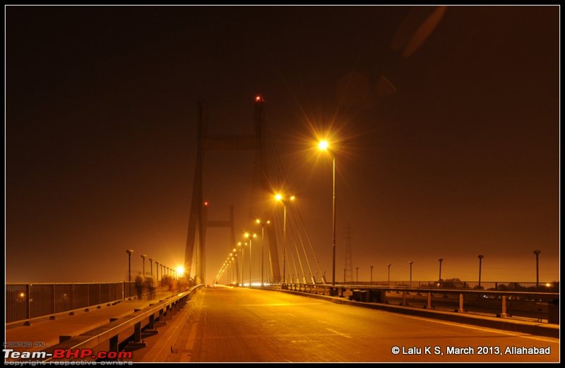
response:
<path fill-rule="evenodd" d="M 4 359 L 131 359 L 131 351 L 99 351 L 92 349 L 55 349 L 52 353 L 44 351 L 14 351 L 13 349 L 3 349 Z"/>

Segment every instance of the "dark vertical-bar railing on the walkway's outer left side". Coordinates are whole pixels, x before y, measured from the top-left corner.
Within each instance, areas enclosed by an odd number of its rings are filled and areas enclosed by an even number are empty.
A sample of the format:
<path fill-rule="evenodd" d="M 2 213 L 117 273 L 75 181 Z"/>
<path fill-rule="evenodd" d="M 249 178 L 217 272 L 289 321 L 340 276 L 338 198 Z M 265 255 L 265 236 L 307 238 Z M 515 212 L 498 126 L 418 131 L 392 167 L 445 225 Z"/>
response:
<path fill-rule="evenodd" d="M 7 283 L 6 324 L 117 302 L 136 295 L 135 283 Z"/>

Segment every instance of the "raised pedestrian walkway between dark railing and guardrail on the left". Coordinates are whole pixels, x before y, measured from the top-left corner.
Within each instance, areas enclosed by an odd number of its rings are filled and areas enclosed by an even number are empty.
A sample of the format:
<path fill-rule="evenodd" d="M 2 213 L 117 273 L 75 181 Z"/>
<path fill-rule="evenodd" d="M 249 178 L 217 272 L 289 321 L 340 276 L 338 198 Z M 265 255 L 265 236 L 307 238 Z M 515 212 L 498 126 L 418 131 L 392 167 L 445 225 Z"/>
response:
<path fill-rule="evenodd" d="M 122 318 L 132 314 L 134 309 L 144 309 L 149 304 L 155 304 L 160 300 L 173 295 L 173 292 L 157 292 L 153 299 L 129 299 L 122 300 L 116 304 L 100 304 L 79 311 L 74 315 L 64 314 L 55 319 L 44 319 L 32 322 L 29 326 L 11 326 L 6 328 L 4 341 L 8 344 L 6 348 L 15 351 L 39 351 L 59 343 L 60 336 L 78 336 L 93 328 L 104 326 L 111 318 Z M 25 343 L 25 344 L 22 344 Z M 30 343 L 30 344 L 28 344 Z M 27 346 L 30 345 L 30 346 Z"/>

